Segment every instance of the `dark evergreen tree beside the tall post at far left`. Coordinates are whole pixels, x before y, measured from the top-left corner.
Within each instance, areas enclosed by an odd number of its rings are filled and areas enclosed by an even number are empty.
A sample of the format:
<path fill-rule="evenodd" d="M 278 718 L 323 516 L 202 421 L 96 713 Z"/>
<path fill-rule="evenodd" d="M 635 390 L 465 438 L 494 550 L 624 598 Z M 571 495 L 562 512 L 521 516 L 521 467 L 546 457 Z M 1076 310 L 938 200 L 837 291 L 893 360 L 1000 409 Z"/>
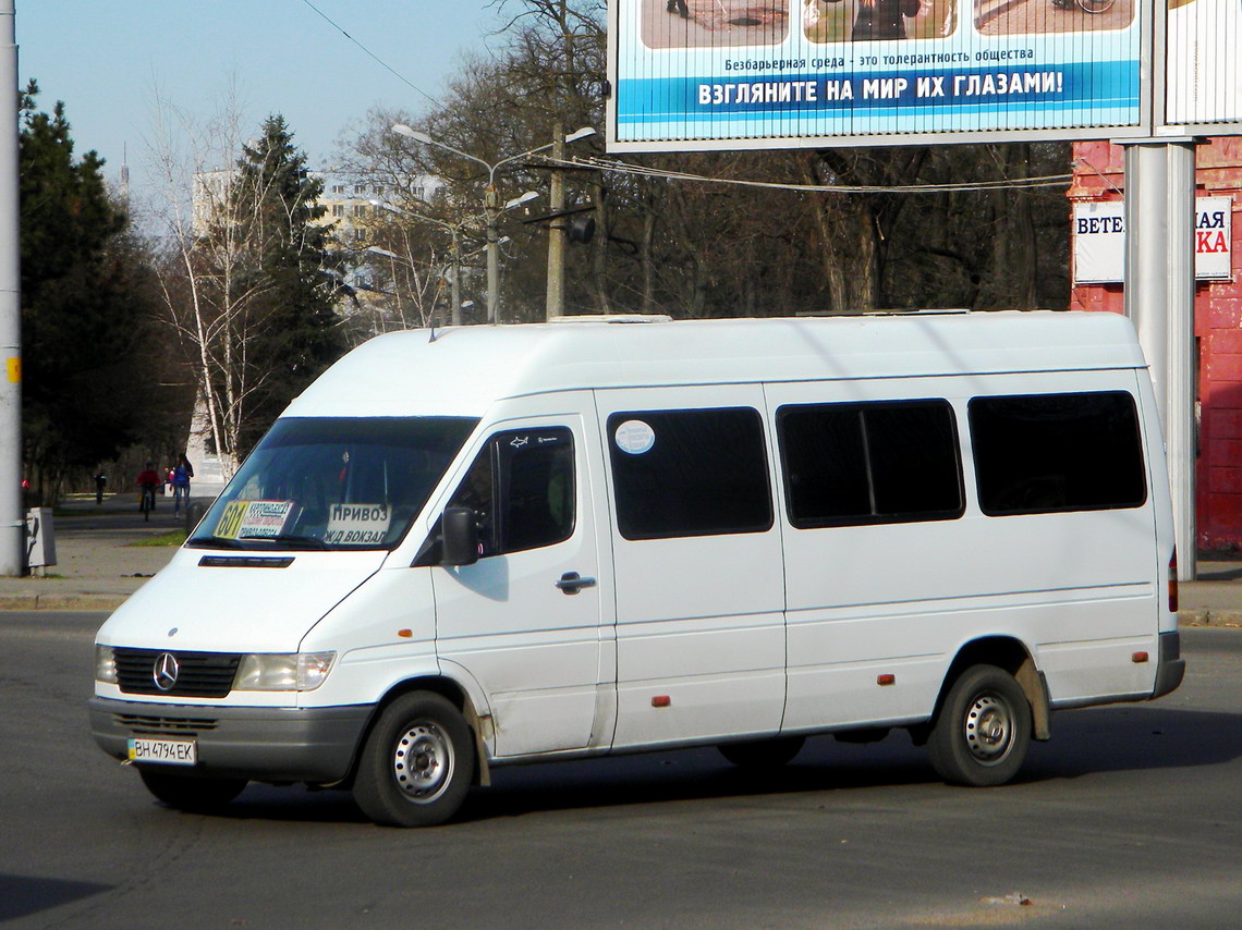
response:
<path fill-rule="evenodd" d="M 150 264 L 108 194 L 103 159 L 73 155 L 65 104 L 21 98 L 24 454 L 45 497 L 112 458 L 159 402 Z"/>

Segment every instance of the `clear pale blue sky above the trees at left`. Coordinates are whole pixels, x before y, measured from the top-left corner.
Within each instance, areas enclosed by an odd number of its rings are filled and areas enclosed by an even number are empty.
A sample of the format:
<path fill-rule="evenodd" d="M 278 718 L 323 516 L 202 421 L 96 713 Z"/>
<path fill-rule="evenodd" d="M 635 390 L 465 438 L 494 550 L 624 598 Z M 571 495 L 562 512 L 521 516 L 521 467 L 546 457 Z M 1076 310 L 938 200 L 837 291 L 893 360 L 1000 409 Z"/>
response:
<path fill-rule="evenodd" d="M 128 160 L 137 196 L 159 97 L 205 122 L 235 86 L 243 125 L 257 134 L 281 113 L 310 166 L 330 168 L 343 130 L 373 107 L 424 112 L 463 55 L 498 43 L 502 24 L 488 0 L 16 0 L 16 10 L 22 87 L 39 81 L 45 112 L 65 102 L 75 151 L 98 151 L 111 183 Z"/>

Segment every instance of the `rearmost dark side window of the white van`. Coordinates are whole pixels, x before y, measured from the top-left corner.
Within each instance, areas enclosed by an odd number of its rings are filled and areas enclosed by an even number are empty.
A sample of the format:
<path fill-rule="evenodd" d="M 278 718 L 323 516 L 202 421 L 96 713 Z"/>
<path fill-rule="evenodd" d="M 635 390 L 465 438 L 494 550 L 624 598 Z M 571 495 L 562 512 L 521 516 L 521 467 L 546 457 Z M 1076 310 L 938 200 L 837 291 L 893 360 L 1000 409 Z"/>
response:
<path fill-rule="evenodd" d="M 1146 500 L 1138 411 L 1125 391 L 975 397 L 969 413 L 985 514 L 1107 510 Z"/>

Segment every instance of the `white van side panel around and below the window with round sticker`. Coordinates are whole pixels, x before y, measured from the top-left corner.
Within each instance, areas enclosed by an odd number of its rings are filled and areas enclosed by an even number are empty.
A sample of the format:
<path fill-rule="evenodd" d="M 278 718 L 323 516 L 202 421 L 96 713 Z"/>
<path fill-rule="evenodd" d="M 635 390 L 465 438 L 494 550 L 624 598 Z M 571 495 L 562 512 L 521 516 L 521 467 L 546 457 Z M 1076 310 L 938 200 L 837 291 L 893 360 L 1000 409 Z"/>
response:
<path fill-rule="evenodd" d="M 749 409 L 759 427 L 761 451 L 748 448 L 746 454 L 768 458 L 758 385 L 597 391 L 596 404 L 609 454 L 641 459 L 677 441 L 653 417 L 643 420 L 645 411 Z M 626 422 L 656 423 L 650 451 L 612 452 L 610 447 L 625 442 L 625 433 L 617 435 L 620 426 L 615 423 L 611 432 L 607 427 L 617 412 L 626 413 Z M 632 431 L 642 435 L 643 427 L 633 426 Z M 633 443 L 633 435 L 630 448 L 642 449 Z M 715 464 L 729 467 L 728 461 Z M 768 461 L 764 483 L 769 498 L 774 474 L 774 463 Z M 661 477 L 651 479 L 660 482 Z M 612 469 L 609 492 L 616 508 Z M 620 517 L 623 523 L 625 514 Z M 678 520 L 668 513 L 655 518 L 672 525 Z M 785 702 L 784 580 L 774 512 L 769 523 L 763 531 L 626 539 L 614 513 L 616 747 L 780 729 Z"/>

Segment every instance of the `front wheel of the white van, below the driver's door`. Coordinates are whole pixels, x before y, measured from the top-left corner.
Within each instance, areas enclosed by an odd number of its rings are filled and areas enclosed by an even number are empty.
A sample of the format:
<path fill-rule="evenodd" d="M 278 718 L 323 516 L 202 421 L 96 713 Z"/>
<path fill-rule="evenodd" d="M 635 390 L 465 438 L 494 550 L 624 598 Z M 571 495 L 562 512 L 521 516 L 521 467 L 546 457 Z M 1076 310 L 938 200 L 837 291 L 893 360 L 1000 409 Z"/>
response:
<path fill-rule="evenodd" d="M 392 702 L 371 729 L 354 801 L 376 823 L 431 827 L 452 817 L 474 774 L 474 739 L 461 711 L 430 692 Z"/>

